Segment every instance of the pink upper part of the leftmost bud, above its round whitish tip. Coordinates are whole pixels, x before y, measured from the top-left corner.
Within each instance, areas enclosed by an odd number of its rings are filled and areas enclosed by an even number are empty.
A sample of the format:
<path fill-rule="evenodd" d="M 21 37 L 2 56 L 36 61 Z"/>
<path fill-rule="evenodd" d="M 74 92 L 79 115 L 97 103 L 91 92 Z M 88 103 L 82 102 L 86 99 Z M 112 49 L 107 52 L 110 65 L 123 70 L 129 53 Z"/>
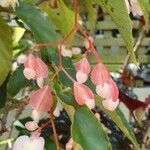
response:
<path fill-rule="evenodd" d="M 35 70 L 35 66 L 36 66 L 36 59 L 32 54 L 29 54 L 27 60 L 24 62 L 24 67 Z"/>

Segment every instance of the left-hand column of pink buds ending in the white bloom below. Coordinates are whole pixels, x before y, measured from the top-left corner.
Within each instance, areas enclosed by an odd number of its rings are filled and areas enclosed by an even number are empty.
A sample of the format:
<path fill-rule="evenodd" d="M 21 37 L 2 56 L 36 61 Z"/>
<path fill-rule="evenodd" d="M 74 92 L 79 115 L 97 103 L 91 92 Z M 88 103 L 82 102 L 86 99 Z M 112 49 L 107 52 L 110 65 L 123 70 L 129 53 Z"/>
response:
<path fill-rule="evenodd" d="M 24 62 L 23 73 L 28 80 L 36 80 L 40 88 L 33 92 L 29 99 L 29 105 L 33 109 L 32 118 L 34 121 L 29 121 L 25 124 L 25 127 L 29 131 L 34 132 L 31 137 L 18 137 L 14 143 L 13 150 L 44 150 L 44 139 L 40 137 L 40 132 L 38 132 L 38 125 L 36 122 L 40 120 L 41 113 L 50 111 L 53 105 L 52 92 L 48 85 L 44 85 L 43 80 L 48 77 L 48 67 L 38 56 L 29 54 L 27 60 Z"/>

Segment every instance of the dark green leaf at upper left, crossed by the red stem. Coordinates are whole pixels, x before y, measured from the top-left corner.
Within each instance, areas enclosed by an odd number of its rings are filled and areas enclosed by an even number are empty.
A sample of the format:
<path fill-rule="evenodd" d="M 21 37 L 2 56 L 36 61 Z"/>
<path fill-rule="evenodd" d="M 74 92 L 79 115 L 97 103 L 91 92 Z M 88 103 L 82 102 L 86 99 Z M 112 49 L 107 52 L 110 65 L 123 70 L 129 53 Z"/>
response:
<path fill-rule="evenodd" d="M 37 43 L 49 43 L 59 40 L 53 24 L 48 17 L 35 6 L 20 3 L 19 7 L 16 8 L 16 15 L 30 27 Z M 56 48 L 53 47 L 41 48 L 41 54 L 45 61 L 48 61 L 50 56 L 55 52 Z"/>

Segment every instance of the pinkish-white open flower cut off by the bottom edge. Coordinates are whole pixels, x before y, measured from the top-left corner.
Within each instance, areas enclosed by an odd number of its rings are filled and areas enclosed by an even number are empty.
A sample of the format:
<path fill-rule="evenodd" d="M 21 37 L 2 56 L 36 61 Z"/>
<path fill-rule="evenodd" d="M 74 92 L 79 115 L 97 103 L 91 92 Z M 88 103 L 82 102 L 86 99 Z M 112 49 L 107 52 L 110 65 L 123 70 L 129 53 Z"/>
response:
<path fill-rule="evenodd" d="M 33 138 L 23 135 L 16 139 L 13 150 L 44 150 L 44 144 L 43 137 L 35 136 Z"/>

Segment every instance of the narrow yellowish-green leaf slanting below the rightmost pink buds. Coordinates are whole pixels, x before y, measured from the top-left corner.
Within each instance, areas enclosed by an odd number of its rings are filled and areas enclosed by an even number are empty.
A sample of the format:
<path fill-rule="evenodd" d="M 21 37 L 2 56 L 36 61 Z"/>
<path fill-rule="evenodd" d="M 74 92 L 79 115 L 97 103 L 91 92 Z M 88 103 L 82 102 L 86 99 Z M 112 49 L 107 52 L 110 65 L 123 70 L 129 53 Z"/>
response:
<path fill-rule="evenodd" d="M 138 143 L 134 132 L 120 109 L 117 108 L 113 112 L 105 109 L 99 98 L 96 99 L 96 105 L 112 119 L 112 121 L 118 126 L 118 128 L 120 128 L 124 135 L 134 144 L 135 148 L 138 149 Z"/>

